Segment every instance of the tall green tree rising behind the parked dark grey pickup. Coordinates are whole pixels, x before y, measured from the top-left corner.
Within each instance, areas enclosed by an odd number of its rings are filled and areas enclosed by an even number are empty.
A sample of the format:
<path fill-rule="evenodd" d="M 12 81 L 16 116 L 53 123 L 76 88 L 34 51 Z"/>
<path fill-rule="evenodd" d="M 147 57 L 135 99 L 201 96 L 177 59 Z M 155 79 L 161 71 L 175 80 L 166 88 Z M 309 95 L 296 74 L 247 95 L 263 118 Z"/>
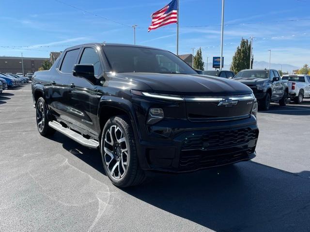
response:
<path fill-rule="evenodd" d="M 250 66 L 250 56 L 251 56 L 251 43 L 248 40 L 241 39 L 240 46 L 233 56 L 233 62 L 231 65 L 231 71 L 238 73 L 243 69 L 248 69 Z M 251 59 L 251 65 L 253 65 L 253 58 Z"/>

